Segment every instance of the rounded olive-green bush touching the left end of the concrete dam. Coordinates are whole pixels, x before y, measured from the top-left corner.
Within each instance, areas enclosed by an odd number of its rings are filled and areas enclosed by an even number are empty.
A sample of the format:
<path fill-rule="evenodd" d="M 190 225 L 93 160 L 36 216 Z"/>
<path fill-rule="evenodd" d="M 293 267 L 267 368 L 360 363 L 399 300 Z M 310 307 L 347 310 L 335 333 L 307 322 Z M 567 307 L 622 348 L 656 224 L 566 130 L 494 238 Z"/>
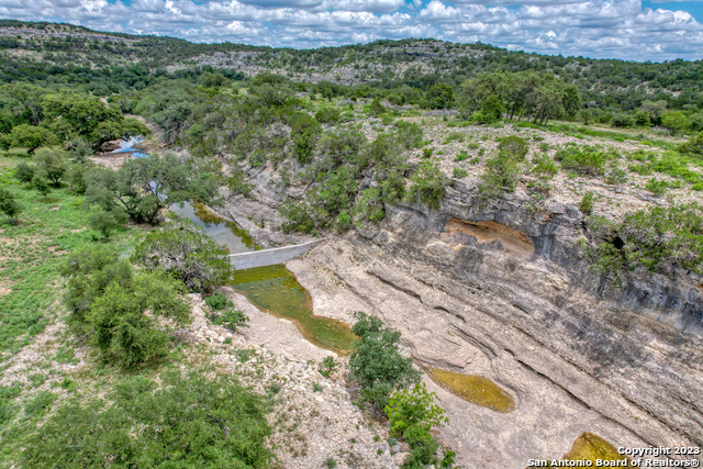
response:
<path fill-rule="evenodd" d="M 210 293 L 232 273 L 228 254 L 202 228 L 180 220 L 146 235 L 131 259 L 149 270 L 164 269 L 191 291 Z"/>

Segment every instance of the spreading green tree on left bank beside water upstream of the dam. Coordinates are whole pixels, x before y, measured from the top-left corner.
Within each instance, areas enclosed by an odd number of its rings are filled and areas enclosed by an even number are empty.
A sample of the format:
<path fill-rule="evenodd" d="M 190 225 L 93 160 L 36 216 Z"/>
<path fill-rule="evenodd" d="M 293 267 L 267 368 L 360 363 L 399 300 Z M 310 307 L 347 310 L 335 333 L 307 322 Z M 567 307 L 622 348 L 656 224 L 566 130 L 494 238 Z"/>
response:
<path fill-rule="evenodd" d="M 193 175 L 172 154 L 125 161 L 118 171 L 97 169 L 89 175 L 86 202 L 105 211 L 124 210 L 137 223 L 157 223 L 159 210 L 188 201 L 222 204 L 214 178 Z"/>

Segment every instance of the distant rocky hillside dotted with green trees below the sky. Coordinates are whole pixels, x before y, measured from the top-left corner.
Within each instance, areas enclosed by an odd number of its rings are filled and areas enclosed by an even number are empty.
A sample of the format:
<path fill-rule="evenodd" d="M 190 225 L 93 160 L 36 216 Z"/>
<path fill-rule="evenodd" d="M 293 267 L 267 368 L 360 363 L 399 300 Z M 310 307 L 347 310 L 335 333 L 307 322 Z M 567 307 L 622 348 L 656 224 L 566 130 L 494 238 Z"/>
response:
<path fill-rule="evenodd" d="M 536 71 L 573 83 L 588 108 L 631 111 L 645 100 L 669 109 L 703 105 L 703 62 L 661 64 L 547 56 L 475 43 L 377 41 L 342 47 L 289 49 L 193 44 L 172 37 L 94 32 L 55 23 L 0 21 L 0 80 L 83 83 L 100 96 L 144 88 L 157 77 L 197 77 L 219 70 L 242 79 L 274 71 L 297 81 L 368 85 L 423 92 L 456 88 L 482 72 Z"/>

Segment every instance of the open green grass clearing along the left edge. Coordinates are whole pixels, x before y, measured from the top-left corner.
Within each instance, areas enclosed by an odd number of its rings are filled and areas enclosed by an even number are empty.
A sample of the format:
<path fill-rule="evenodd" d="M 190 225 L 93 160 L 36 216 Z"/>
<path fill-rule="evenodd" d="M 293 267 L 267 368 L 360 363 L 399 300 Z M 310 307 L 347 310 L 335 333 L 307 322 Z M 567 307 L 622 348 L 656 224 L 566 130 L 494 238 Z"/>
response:
<path fill-rule="evenodd" d="M 62 310 L 63 256 L 96 243 L 87 228 L 82 197 L 55 189 L 44 200 L 11 177 L 12 160 L 0 157 L 0 187 L 10 190 L 22 213 L 16 225 L 0 215 L 0 361 L 7 360 L 41 334 Z M 133 237 L 133 230 L 115 233 L 113 243 Z"/>

